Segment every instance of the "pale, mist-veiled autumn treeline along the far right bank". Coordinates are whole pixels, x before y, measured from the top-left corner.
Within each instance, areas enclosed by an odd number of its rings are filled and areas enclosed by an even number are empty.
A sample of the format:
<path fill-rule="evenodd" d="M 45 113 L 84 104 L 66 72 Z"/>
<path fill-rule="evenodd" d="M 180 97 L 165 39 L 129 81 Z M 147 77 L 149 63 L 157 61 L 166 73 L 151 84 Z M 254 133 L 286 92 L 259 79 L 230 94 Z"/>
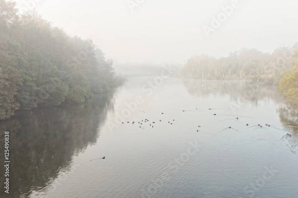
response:
<path fill-rule="evenodd" d="M 195 55 L 188 59 L 178 75 L 200 79 L 249 79 L 255 83 L 277 85 L 283 72 L 293 66 L 297 49 L 298 43 L 292 48 L 275 49 L 271 54 L 242 49 L 221 58 Z"/>

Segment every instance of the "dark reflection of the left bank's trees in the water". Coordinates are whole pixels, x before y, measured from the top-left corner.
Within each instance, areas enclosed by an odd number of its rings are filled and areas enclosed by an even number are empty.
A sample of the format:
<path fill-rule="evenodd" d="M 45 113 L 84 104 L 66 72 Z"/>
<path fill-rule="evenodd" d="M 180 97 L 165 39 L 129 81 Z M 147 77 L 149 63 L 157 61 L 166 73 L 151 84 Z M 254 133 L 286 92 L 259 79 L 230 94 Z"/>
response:
<path fill-rule="evenodd" d="M 0 131 L 10 134 L 10 196 L 28 197 L 48 186 L 60 170 L 70 170 L 73 156 L 96 143 L 100 126 L 114 106 L 113 96 L 108 93 L 76 106 L 19 112 L 0 122 Z M 3 136 L 0 141 L 3 145 Z"/>

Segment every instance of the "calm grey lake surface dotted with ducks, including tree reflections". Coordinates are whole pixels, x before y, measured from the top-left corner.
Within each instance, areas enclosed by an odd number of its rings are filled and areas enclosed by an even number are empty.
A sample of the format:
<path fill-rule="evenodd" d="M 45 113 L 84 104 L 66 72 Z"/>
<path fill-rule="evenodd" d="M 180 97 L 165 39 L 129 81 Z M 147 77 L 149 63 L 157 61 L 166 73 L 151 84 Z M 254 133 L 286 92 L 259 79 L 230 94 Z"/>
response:
<path fill-rule="evenodd" d="M 11 136 L 11 196 L 297 197 L 298 110 L 274 88 L 171 78 L 148 96 L 142 87 L 153 78 L 1 122 Z M 137 96 L 144 102 L 116 124 Z"/>

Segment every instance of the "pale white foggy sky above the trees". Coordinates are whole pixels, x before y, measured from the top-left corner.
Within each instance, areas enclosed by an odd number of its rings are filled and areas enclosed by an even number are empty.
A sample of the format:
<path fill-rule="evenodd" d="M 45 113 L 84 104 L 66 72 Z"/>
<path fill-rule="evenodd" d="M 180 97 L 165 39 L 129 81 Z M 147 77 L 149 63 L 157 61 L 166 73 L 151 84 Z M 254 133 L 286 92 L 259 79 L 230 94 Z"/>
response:
<path fill-rule="evenodd" d="M 16 0 L 22 10 L 29 9 Z M 183 63 L 194 54 L 226 56 L 241 48 L 272 52 L 298 42 L 297 0 L 238 0 L 238 8 L 206 36 L 233 0 L 35 0 L 35 9 L 70 35 L 91 38 L 117 63 Z M 142 1 L 144 1 L 142 3 Z M 224 19 L 223 19 L 224 20 Z"/>

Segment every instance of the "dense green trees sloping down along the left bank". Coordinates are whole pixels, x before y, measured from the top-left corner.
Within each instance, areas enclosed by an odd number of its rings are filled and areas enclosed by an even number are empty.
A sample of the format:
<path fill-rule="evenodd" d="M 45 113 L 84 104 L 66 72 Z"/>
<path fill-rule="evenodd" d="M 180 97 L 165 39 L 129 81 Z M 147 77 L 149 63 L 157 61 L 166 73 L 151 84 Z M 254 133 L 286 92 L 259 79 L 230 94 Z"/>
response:
<path fill-rule="evenodd" d="M 18 109 L 82 103 L 122 83 L 91 40 L 0 0 L 0 120 Z"/>

